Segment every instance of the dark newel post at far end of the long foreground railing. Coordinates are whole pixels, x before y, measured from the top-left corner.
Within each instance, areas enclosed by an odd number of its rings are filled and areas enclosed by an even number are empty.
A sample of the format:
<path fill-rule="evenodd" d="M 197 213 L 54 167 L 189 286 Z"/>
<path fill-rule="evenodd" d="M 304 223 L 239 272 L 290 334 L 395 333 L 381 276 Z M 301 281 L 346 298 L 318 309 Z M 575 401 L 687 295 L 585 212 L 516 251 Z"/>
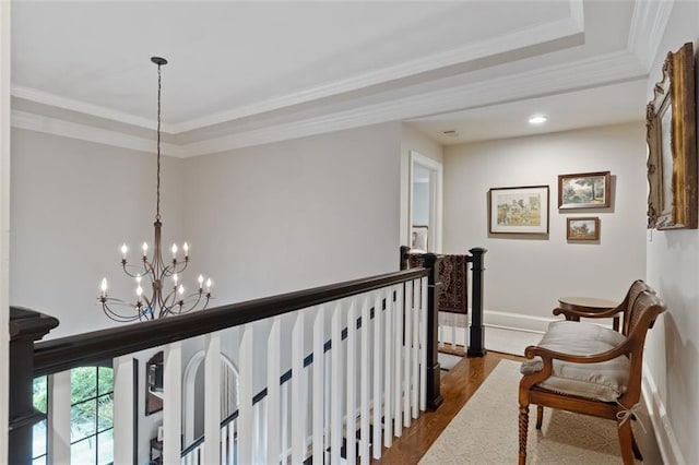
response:
<path fill-rule="evenodd" d="M 442 403 L 439 391 L 438 314 L 439 314 L 439 263 L 441 257 L 434 253 L 423 255 L 423 266 L 429 269 L 427 278 L 427 408 L 436 410 Z"/>

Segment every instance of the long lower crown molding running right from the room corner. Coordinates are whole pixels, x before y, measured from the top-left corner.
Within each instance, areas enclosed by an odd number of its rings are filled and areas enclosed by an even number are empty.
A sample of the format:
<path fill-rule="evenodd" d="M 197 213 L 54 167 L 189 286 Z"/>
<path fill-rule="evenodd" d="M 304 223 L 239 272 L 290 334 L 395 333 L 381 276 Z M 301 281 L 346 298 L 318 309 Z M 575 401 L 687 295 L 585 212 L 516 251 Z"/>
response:
<path fill-rule="evenodd" d="M 555 67 L 491 79 L 401 99 L 269 126 L 182 145 L 183 156 L 199 156 L 308 135 L 424 117 L 483 105 L 572 92 L 595 85 L 645 79 L 638 59 L 621 50 Z M 545 90 L 545 92 L 542 92 Z"/>

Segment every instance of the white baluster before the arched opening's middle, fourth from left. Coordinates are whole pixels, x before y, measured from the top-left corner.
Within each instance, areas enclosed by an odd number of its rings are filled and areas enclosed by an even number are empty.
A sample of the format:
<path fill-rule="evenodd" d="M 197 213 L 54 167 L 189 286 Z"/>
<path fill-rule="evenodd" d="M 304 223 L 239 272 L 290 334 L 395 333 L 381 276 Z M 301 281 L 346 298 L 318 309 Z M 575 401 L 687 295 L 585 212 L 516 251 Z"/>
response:
<path fill-rule="evenodd" d="M 204 336 L 204 445 L 209 463 L 220 463 L 221 444 L 221 334 Z"/>

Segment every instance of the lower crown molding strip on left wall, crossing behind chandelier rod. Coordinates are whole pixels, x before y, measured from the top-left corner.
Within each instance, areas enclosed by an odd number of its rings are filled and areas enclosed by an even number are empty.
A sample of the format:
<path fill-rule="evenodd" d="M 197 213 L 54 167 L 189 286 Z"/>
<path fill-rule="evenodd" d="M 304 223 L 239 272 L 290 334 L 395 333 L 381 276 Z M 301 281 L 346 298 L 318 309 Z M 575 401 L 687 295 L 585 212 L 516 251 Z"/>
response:
<path fill-rule="evenodd" d="M 94 126 L 66 121 L 44 115 L 12 110 L 11 121 L 13 128 L 95 142 L 132 151 L 157 153 L 155 141 L 152 139 L 139 138 L 125 134 L 123 132 L 95 128 Z M 182 158 L 183 156 L 182 147 L 170 143 L 161 143 L 161 152 L 163 155 L 178 158 Z"/>

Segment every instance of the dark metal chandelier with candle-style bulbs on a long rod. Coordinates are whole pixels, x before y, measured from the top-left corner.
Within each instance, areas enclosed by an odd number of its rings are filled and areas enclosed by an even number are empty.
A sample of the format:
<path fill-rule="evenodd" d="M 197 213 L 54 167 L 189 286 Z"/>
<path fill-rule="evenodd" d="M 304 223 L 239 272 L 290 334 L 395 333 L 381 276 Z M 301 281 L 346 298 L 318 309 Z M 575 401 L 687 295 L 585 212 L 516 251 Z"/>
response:
<path fill-rule="evenodd" d="M 189 245 L 185 242 L 181 253 L 177 245 L 173 245 L 173 259 L 163 259 L 161 229 L 161 67 L 167 60 L 152 57 L 157 64 L 157 189 L 155 206 L 155 240 L 153 255 L 149 259 L 149 245 L 143 242 L 143 254 L 138 263 L 127 261 L 129 248 L 121 246 L 121 267 L 123 272 L 135 279 L 135 302 L 116 299 L 107 295 L 107 278 L 102 279 L 100 294 L 97 300 L 102 302 L 105 314 L 114 321 L 130 322 L 135 320 L 155 320 L 169 314 L 181 314 L 201 307 L 205 309 L 211 299 L 211 278 L 204 282 L 199 275 L 199 289 L 186 294 L 179 275 L 189 265 Z M 183 257 L 182 257 L 183 255 Z M 145 279 L 145 281 L 144 281 Z M 144 289 L 141 284 L 151 284 L 151 289 Z M 147 285 L 146 285 L 147 287 Z"/>

